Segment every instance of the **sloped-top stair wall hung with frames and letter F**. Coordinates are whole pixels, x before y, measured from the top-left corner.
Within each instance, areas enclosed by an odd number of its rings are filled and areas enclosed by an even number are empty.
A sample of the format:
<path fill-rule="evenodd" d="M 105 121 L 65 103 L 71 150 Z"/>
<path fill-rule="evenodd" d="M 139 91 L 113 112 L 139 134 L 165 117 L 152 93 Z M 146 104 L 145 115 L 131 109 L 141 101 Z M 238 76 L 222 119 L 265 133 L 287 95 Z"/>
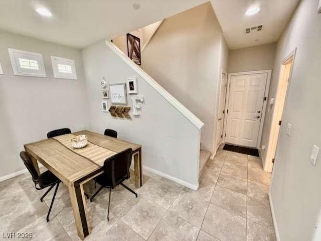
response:
<path fill-rule="evenodd" d="M 83 62 L 91 129 L 99 133 L 106 128 L 116 130 L 119 138 L 142 145 L 144 166 L 183 185 L 197 188 L 200 130 L 107 47 L 104 41 L 84 49 Z M 125 83 L 128 77 L 137 77 L 138 95 L 145 98 L 139 117 L 120 119 L 101 111 L 99 82 L 103 76 L 108 84 Z M 130 98 L 127 105 L 132 105 Z"/>

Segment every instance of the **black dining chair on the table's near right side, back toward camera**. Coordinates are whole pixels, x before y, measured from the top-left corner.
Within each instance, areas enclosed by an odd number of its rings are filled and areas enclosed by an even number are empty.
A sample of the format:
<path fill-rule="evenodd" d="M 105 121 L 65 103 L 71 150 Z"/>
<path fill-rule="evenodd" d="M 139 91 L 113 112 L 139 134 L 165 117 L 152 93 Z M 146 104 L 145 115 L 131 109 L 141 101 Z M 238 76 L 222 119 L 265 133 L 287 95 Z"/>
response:
<path fill-rule="evenodd" d="M 128 191 L 135 194 L 137 197 L 137 193 L 131 190 L 122 182 L 126 179 L 129 179 L 129 167 L 131 164 L 132 157 L 132 149 L 128 148 L 122 152 L 117 153 L 116 155 L 109 157 L 104 162 L 104 173 L 95 177 L 94 180 L 101 185 L 100 188 L 90 197 L 90 201 L 94 199 L 94 197 L 103 189 L 109 188 L 109 201 L 108 201 L 108 213 L 107 213 L 107 221 L 109 221 L 109 206 L 110 206 L 110 194 L 111 189 L 116 187 L 117 185 L 121 185 L 126 188 Z"/>

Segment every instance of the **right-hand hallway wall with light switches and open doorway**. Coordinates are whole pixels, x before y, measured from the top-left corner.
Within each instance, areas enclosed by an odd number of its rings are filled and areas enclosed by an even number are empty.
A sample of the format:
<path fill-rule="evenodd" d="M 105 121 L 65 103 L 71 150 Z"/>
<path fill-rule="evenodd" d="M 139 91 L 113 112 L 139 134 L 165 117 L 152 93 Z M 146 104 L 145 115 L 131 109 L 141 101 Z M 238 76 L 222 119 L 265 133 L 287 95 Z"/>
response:
<path fill-rule="evenodd" d="M 274 96 L 281 61 L 297 48 L 270 189 L 282 241 L 312 240 L 313 232 L 321 229 L 317 222 L 321 157 L 314 167 L 309 160 L 312 145 L 321 147 L 321 14 L 317 14 L 317 6 L 318 0 L 300 2 L 277 44 L 270 88 L 270 96 Z M 265 122 L 268 127 L 271 113 Z M 292 125 L 290 137 L 285 134 L 287 123 Z"/>

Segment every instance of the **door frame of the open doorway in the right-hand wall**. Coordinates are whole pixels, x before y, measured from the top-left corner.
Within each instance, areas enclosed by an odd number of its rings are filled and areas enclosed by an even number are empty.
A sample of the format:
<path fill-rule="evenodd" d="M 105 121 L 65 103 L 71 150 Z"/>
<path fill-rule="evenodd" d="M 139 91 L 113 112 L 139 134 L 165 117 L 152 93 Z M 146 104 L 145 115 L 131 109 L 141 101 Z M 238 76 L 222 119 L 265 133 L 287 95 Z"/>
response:
<path fill-rule="evenodd" d="M 283 123 L 283 116 L 284 116 L 284 110 L 286 108 L 286 102 L 287 102 L 287 97 L 288 97 L 288 90 L 290 87 L 290 83 L 291 83 L 291 77 L 292 77 L 292 72 L 293 72 L 293 66 L 294 66 L 294 60 L 295 60 L 295 54 L 296 54 L 296 48 L 294 50 L 292 50 L 288 55 L 286 55 L 280 64 L 280 71 L 279 71 L 279 75 L 278 75 L 278 83 L 277 83 L 277 89 L 275 92 L 275 104 L 273 107 L 273 112 L 272 112 L 272 119 L 271 119 L 271 129 L 270 129 L 270 133 L 268 134 L 269 139 L 268 139 L 268 143 L 267 143 L 267 147 L 266 147 L 266 154 L 265 154 L 265 160 L 263 160 L 263 169 L 266 172 L 272 172 L 273 170 L 273 161 L 272 159 L 275 158 L 275 154 L 276 154 L 276 150 L 277 150 L 277 143 L 278 140 L 280 138 L 280 134 L 281 134 L 281 128 L 284 125 Z M 277 132 L 277 127 L 278 127 L 278 122 L 280 121 L 280 119 L 278 119 L 278 113 L 280 111 L 280 101 L 278 101 L 279 95 L 280 95 L 280 91 L 282 88 L 282 81 L 284 81 L 283 76 L 282 76 L 282 72 L 283 72 L 283 65 L 286 65 L 286 63 L 288 61 L 290 61 L 290 59 L 292 58 L 292 64 L 291 64 L 291 69 L 290 69 L 290 73 L 289 73 L 289 78 L 288 78 L 288 84 L 287 84 L 287 88 L 286 88 L 286 94 L 285 94 L 285 99 L 284 99 L 284 104 L 283 104 L 283 110 L 282 110 L 282 116 L 281 116 L 281 126 L 279 128 L 278 134 L 276 135 Z M 275 144 L 276 142 L 276 147 L 275 150 L 272 147 L 273 144 Z M 272 149 L 273 148 L 273 149 Z"/>

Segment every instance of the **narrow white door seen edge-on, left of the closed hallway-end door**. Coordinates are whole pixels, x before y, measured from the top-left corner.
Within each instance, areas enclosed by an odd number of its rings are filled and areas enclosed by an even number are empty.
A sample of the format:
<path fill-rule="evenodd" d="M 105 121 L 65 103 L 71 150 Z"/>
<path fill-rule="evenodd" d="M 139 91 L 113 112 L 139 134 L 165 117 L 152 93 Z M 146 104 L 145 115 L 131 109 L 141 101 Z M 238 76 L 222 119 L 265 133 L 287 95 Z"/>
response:
<path fill-rule="evenodd" d="M 221 78 L 220 99 L 219 99 L 219 107 L 218 107 L 218 121 L 217 121 L 217 131 L 216 131 L 216 150 L 222 144 L 226 89 L 227 89 L 227 73 L 223 72 L 222 78 Z"/>

